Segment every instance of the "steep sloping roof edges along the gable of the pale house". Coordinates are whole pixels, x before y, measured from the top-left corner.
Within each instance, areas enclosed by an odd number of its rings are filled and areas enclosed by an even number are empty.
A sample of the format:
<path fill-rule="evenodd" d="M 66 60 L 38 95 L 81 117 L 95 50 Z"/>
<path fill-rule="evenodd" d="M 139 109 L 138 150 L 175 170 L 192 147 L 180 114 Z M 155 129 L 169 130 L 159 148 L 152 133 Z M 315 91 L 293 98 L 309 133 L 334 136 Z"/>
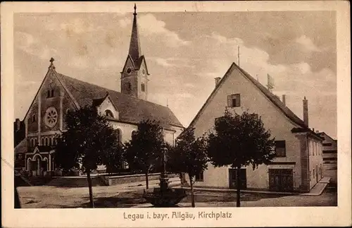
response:
<path fill-rule="evenodd" d="M 282 113 L 287 116 L 287 118 L 289 118 L 291 121 L 293 121 L 295 124 L 297 124 L 298 126 L 300 126 L 301 128 L 304 129 L 308 129 L 308 126 L 306 126 L 306 124 L 304 124 L 304 122 L 298 117 L 296 116 L 296 114 L 294 114 L 294 112 L 292 112 L 283 102 L 281 102 L 279 100 L 279 98 L 277 96 L 275 96 L 274 94 L 272 94 L 272 92 L 270 92 L 267 88 L 265 88 L 265 86 L 263 86 L 262 84 L 260 84 L 256 79 L 254 79 L 249 73 L 247 73 L 246 71 L 244 71 L 244 69 L 240 68 L 239 66 L 237 66 L 235 63 L 232 63 L 232 65 L 230 66 L 230 68 L 227 70 L 227 72 L 225 73 L 225 76 L 222 77 L 222 79 L 220 80 L 220 82 L 218 83 L 218 85 L 216 85 L 215 89 L 213 90 L 213 92 L 210 94 L 210 96 L 208 97 L 208 100 L 206 100 L 206 102 L 203 104 L 203 107 L 201 107 L 201 109 L 199 110 L 198 114 L 196 114 L 196 117 L 194 117 L 194 120 L 191 121 L 191 125 L 194 124 L 194 122 L 196 121 L 196 119 L 199 118 L 201 112 L 203 111 L 203 109 L 206 107 L 206 104 L 208 104 L 208 102 L 210 102 L 210 100 L 212 99 L 213 95 L 215 95 L 215 92 L 218 90 L 218 88 L 220 88 L 220 85 L 222 85 L 222 83 L 224 83 L 224 81 L 226 80 L 226 78 L 228 76 L 230 76 L 230 74 L 232 73 L 232 71 L 234 71 L 234 69 L 237 68 L 242 75 L 247 78 L 251 83 L 253 83 L 253 85 L 256 86 L 256 88 L 258 88 L 261 92 L 263 92 L 263 95 L 265 95 L 265 97 L 268 97 L 268 99 L 275 104 L 275 106 L 277 108 L 279 108 Z"/>

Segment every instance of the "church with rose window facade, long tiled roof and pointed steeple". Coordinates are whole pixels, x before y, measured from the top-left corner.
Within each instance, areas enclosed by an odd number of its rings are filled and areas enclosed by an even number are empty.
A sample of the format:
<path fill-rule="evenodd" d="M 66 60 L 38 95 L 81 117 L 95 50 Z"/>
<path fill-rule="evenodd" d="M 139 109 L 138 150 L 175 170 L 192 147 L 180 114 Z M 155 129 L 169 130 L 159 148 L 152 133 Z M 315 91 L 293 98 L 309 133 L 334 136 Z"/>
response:
<path fill-rule="evenodd" d="M 16 119 L 14 124 L 18 126 L 15 136 L 23 135 L 16 138 L 15 164 L 23 164 L 22 169 L 34 176 L 55 174 L 56 136 L 65 131 L 65 115 L 87 105 L 106 116 L 122 143 L 132 138 L 139 121 L 154 119 L 163 126 L 165 141 L 174 145 L 184 128 L 168 107 L 148 101 L 150 74 L 141 52 L 135 5 L 133 17 L 130 49 L 120 72 L 120 92 L 58 73 L 54 59 L 50 59 L 23 121 Z"/>

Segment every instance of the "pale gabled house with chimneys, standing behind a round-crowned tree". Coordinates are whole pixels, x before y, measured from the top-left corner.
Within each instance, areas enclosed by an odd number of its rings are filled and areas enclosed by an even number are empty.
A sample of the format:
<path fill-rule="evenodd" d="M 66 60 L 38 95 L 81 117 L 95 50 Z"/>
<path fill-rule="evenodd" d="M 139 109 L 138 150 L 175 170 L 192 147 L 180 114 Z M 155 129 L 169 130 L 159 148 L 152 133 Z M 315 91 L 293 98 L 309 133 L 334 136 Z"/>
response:
<path fill-rule="evenodd" d="M 260 115 L 276 140 L 277 157 L 271 164 L 262 164 L 256 170 L 251 166 L 241 169 L 241 188 L 309 192 L 322 179 L 322 138 L 308 128 L 306 97 L 302 121 L 249 73 L 232 64 L 224 77 L 215 78 L 215 89 L 191 121 L 195 135 L 212 131 L 225 107 L 238 114 L 248 109 Z M 208 169 L 196 176 L 194 186 L 237 188 L 236 170 L 215 168 L 209 163 Z"/>

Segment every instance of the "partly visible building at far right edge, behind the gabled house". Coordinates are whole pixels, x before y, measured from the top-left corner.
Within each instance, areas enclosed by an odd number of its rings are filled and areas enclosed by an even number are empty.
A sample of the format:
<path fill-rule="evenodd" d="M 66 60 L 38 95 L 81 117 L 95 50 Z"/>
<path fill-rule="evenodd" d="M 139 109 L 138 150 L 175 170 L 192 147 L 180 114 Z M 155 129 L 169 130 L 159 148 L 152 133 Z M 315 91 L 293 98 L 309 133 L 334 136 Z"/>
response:
<path fill-rule="evenodd" d="M 324 138 L 322 141 L 323 174 L 331 177 L 332 183 L 337 184 L 337 140 L 325 132 L 319 135 Z"/>

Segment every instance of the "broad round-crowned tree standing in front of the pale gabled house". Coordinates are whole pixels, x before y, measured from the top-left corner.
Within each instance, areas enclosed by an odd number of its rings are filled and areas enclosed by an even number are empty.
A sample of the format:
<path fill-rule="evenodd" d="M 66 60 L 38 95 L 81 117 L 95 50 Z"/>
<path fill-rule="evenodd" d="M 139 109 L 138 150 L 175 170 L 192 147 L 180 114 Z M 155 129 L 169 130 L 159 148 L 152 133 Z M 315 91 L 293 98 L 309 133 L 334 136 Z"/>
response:
<path fill-rule="evenodd" d="M 215 119 L 214 131 L 208 133 L 207 152 L 215 167 L 230 165 L 236 169 L 237 207 L 240 206 L 240 171 L 249 164 L 253 170 L 259 164 L 268 164 L 274 157 L 275 138 L 264 128 L 258 114 L 243 112 L 232 114 L 228 109 L 224 116 Z"/>

